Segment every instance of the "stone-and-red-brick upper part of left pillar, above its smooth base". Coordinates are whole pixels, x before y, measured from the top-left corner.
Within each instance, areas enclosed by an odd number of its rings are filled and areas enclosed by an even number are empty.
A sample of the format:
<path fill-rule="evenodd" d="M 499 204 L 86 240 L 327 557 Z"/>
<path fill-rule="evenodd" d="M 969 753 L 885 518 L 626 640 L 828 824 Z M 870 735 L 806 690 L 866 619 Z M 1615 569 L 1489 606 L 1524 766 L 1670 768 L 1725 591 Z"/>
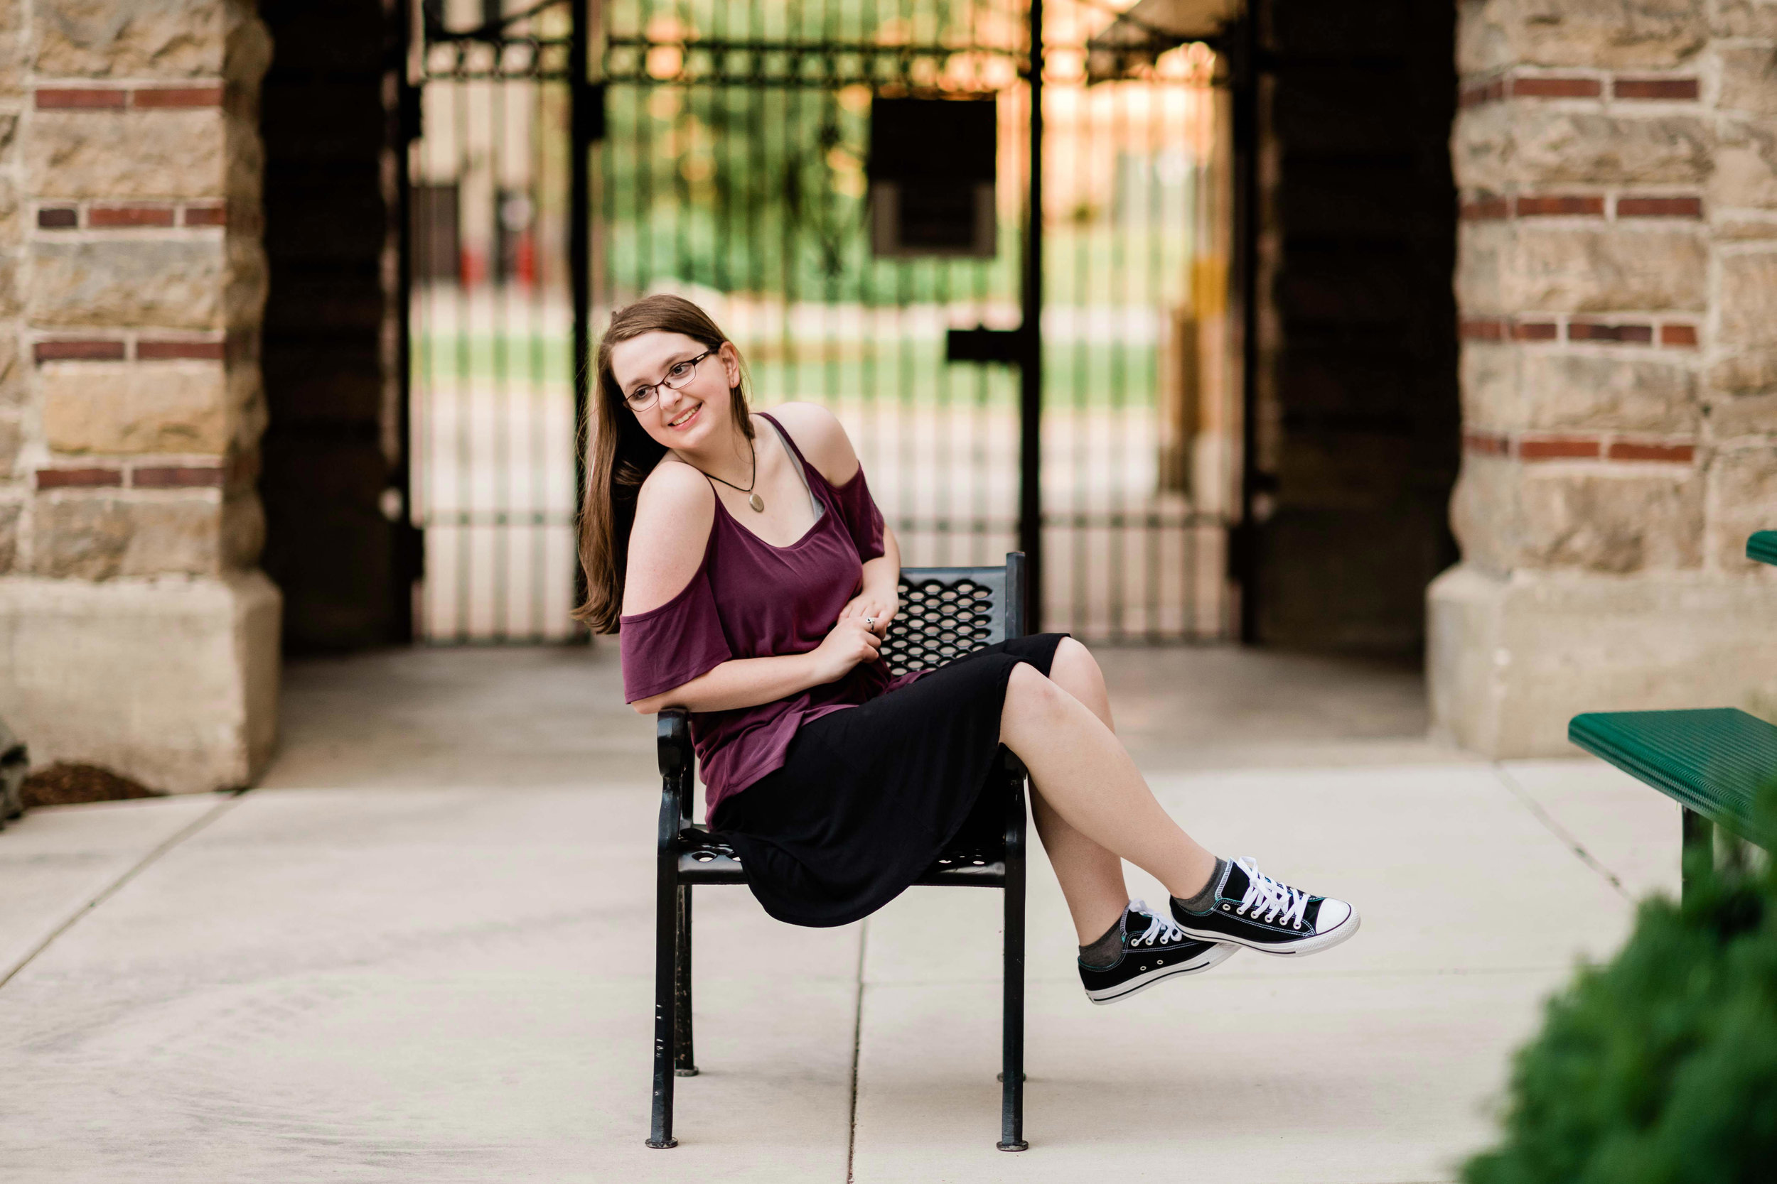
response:
<path fill-rule="evenodd" d="M 270 39 L 238 0 L 5 14 L 0 573 L 252 566 Z"/>

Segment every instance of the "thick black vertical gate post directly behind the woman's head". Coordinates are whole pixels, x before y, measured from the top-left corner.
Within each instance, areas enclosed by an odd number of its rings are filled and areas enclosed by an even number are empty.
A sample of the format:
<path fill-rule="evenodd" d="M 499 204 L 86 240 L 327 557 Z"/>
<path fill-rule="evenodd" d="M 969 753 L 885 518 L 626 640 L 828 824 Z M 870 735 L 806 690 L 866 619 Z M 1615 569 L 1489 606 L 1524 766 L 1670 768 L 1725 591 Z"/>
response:
<path fill-rule="evenodd" d="M 572 28 L 567 43 L 569 85 L 569 183 L 567 183 L 567 270 L 574 305 L 574 357 L 569 367 L 574 375 L 574 509 L 586 501 L 586 449 L 592 444 L 590 408 L 592 376 L 586 373 L 592 353 L 592 108 L 595 96 L 588 76 L 590 14 L 597 0 L 572 0 L 569 12 Z M 574 604 L 586 602 L 586 573 L 574 564 Z M 590 639 L 590 635 L 588 635 Z M 670 1088 L 670 1086 L 668 1086 Z M 670 1102 L 668 1102 L 670 1104 Z"/>

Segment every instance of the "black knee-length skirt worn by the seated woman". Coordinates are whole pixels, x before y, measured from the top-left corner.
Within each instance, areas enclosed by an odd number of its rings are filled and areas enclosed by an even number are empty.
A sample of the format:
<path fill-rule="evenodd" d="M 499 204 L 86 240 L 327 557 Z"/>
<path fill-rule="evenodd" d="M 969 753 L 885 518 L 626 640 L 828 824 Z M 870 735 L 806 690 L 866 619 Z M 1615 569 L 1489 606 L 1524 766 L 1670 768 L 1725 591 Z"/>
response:
<path fill-rule="evenodd" d="M 1002 834 L 999 802 L 981 790 L 1000 749 L 1006 682 L 1018 662 L 1048 675 L 1063 637 L 1000 641 L 800 728 L 784 767 L 711 820 L 764 911 L 791 925 L 849 925 L 906 891 L 952 840 Z"/>

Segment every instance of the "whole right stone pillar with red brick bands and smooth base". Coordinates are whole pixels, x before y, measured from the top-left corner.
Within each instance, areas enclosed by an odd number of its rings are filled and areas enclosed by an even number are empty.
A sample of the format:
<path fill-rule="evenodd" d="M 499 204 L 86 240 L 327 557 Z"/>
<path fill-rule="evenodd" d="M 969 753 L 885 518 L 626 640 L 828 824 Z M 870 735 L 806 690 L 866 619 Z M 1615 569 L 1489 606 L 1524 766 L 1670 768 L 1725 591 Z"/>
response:
<path fill-rule="evenodd" d="M 1777 4 L 1459 5 L 1462 563 L 1436 726 L 1573 753 L 1585 710 L 1777 712 Z"/>

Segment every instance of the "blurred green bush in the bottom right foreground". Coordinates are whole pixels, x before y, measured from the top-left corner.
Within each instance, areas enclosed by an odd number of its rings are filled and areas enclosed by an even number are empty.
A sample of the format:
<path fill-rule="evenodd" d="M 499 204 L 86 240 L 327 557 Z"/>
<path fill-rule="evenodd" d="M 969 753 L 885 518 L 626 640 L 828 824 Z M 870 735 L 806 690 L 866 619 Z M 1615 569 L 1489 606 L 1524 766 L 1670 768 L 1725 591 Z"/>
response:
<path fill-rule="evenodd" d="M 1777 786 L 1761 813 L 1772 833 Z M 1777 1180 L 1777 873 L 1686 870 L 1683 904 L 1644 902 L 1622 953 L 1548 1005 L 1466 1184 Z"/>

